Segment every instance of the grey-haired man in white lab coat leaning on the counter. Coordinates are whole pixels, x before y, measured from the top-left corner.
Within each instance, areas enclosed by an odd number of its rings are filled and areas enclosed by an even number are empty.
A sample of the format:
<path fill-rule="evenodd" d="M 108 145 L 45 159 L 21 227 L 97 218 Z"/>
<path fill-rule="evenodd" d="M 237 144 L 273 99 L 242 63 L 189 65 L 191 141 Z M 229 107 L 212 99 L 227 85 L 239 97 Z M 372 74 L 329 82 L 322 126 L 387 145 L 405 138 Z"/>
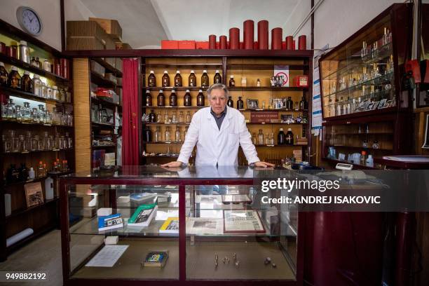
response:
<path fill-rule="evenodd" d="M 207 89 L 210 107 L 200 109 L 193 116 L 177 161 L 163 167 L 187 164 L 193 147 L 197 146 L 195 165 L 238 165 L 238 145 L 247 162 L 256 167 L 273 167 L 261 162 L 252 144 L 245 117 L 237 109 L 226 106 L 229 91 L 224 84 L 216 83 Z"/>

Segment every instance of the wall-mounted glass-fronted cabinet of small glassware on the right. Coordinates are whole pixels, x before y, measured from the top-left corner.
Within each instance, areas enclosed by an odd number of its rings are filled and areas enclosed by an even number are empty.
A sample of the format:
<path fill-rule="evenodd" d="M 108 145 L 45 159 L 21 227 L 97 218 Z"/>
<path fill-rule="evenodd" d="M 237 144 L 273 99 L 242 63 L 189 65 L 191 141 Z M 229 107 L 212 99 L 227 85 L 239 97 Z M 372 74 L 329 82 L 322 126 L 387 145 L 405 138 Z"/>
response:
<path fill-rule="evenodd" d="M 411 53 L 411 24 L 411 5 L 393 4 L 320 57 L 325 120 L 409 107 L 400 81 Z"/>

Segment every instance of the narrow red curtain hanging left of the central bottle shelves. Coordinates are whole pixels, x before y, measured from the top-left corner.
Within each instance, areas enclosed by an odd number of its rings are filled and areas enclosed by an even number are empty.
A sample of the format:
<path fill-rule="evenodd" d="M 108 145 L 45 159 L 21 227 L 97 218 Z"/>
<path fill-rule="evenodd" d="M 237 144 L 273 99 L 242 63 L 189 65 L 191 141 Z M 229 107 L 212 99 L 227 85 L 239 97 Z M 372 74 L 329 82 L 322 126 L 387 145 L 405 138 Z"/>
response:
<path fill-rule="evenodd" d="M 139 165 L 138 59 L 123 59 L 122 165 Z"/>

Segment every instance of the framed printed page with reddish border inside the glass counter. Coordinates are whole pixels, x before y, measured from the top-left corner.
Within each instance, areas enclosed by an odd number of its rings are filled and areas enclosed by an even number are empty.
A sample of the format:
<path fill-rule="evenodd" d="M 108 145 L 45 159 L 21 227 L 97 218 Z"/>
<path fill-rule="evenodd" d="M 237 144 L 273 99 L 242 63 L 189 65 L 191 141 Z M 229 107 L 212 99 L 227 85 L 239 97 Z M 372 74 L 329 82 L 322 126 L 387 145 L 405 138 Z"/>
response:
<path fill-rule="evenodd" d="M 264 233 L 256 210 L 224 210 L 224 233 Z"/>

